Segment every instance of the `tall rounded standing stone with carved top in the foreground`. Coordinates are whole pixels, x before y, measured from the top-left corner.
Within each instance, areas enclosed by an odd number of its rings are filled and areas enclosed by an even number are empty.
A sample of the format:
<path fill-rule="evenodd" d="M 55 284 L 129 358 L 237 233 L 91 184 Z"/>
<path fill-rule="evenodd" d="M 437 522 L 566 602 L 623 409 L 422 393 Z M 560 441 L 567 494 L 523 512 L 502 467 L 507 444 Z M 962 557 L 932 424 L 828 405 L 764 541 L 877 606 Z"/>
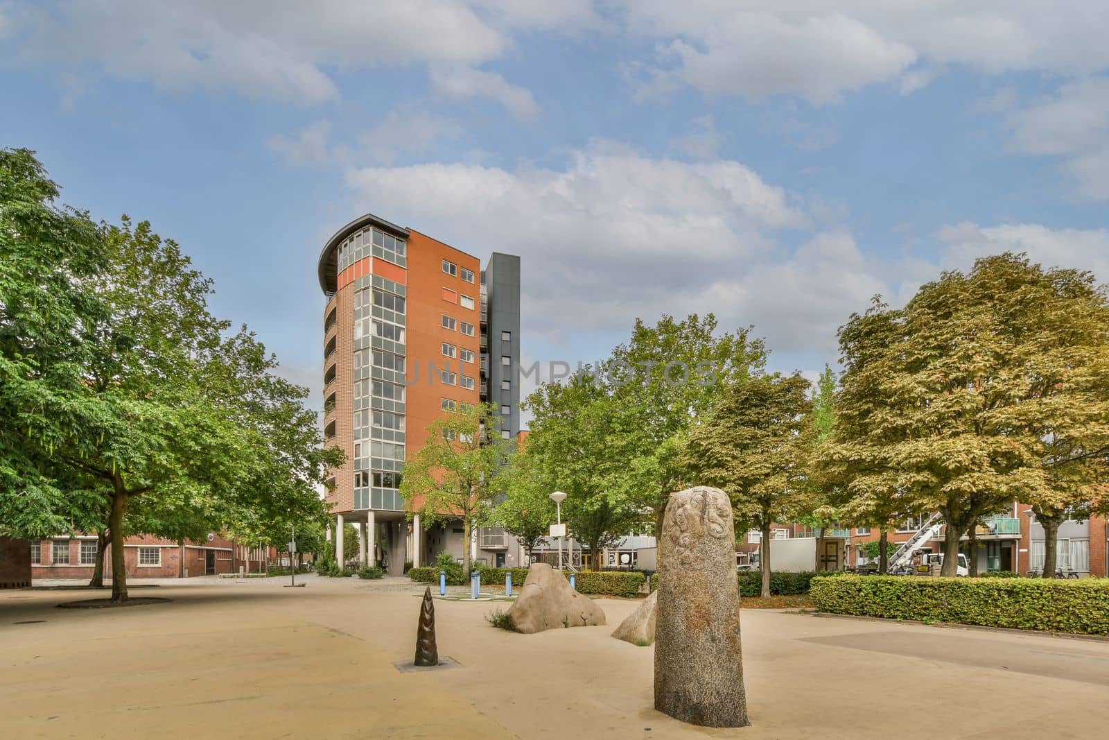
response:
<path fill-rule="evenodd" d="M 732 504 L 719 488 L 671 495 L 659 540 L 654 708 L 704 727 L 746 727 Z"/>

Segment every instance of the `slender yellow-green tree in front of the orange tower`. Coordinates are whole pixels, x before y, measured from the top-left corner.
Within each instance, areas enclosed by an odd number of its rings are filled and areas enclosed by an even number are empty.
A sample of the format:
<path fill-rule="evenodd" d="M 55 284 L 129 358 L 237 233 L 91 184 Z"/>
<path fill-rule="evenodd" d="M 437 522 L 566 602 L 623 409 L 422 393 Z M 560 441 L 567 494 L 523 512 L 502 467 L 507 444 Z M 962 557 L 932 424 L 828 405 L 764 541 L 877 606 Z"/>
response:
<path fill-rule="evenodd" d="M 491 518 L 500 467 L 500 416 L 489 404 L 464 406 L 428 426 L 427 440 L 405 463 L 400 494 L 425 529 L 462 520 L 462 567 L 470 571 L 470 538 Z"/>

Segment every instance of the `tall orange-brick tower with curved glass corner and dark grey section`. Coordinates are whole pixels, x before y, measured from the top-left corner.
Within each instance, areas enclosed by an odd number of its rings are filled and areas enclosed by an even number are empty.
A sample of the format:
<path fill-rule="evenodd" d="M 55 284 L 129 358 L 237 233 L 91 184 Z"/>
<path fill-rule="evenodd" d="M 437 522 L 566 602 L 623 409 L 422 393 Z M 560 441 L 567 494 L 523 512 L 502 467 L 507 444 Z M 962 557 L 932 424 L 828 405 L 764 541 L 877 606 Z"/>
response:
<path fill-rule="evenodd" d="M 366 214 L 327 241 L 318 272 L 327 296 L 324 437 L 347 454 L 330 472 L 327 497 L 336 554 L 342 559 L 343 524 L 352 523 L 370 533 L 359 537 L 359 561 L 384 560 L 390 575 L 406 560 L 460 556 L 460 525 L 409 526 L 400 479 L 431 422 L 462 404 L 488 399 L 505 429 L 518 430 L 519 257 L 496 253 L 482 271 L 466 252 Z M 501 536 L 495 546 L 486 535 L 468 544 L 471 555 L 505 559 L 515 543 Z"/>

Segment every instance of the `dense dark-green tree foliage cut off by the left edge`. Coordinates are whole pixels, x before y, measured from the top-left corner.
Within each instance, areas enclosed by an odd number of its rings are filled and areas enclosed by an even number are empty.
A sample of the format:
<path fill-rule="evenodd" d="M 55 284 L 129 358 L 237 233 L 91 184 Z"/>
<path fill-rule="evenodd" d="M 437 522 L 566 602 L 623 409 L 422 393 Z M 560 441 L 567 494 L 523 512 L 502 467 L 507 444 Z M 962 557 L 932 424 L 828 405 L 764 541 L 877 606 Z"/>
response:
<path fill-rule="evenodd" d="M 103 413 L 87 392 L 94 347 L 81 335 L 108 314 L 91 287 L 108 254 L 103 231 L 58 195 L 33 152 L 0 151 L 0 533 L 17 537 L 94 515 L 54 453 Z"/>

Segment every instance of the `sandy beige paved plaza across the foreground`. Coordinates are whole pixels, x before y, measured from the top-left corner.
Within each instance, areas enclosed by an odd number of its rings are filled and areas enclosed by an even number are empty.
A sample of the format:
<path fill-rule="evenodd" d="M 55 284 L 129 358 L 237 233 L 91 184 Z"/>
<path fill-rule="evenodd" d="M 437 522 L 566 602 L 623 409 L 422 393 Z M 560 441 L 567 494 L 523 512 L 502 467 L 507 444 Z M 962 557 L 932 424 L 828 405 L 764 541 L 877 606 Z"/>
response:
<path fill-rule="evenodd" d="M 503 604 L 437 600 L 439 655 L 404 672 L 407 579 L 163 581 L 126 609 L 0 591 L 3 738 L 1085 738 L 1103 732 L 1109 642 L 764 610 L 742 615 L 752 727 L 652 709 L 652 649 L 609 625 L 489 627 Z M 912 729 L 910 728 L 915 728 Z M 924 729 L 922 729 L 924 728 Z"/>

